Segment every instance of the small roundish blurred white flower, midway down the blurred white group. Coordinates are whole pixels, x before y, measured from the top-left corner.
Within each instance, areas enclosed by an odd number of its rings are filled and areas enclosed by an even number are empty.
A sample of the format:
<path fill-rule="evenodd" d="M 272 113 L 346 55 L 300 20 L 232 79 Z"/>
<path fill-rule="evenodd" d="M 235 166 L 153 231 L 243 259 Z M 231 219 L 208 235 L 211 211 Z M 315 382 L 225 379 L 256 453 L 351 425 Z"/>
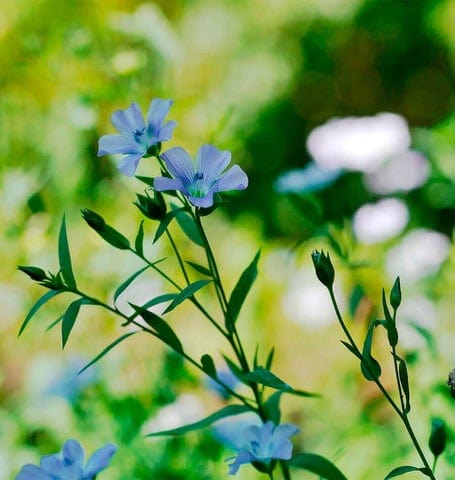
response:
<path fill-rule="evenodd" d="M 386 198 L 360 207 L 354 214 L 353 229 L 361 242 L 378 243 L 401 233 L 408 220 L 406 204 L 396 198 Z"/>

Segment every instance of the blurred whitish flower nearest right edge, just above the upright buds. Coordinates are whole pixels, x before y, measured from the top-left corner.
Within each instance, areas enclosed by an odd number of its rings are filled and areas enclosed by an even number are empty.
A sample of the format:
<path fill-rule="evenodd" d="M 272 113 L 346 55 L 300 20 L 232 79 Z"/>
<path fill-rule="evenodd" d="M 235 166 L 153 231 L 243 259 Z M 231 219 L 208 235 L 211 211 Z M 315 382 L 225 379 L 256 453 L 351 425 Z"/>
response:
<path fill-rule="evenodd" d="M 386 258 L 388 274 L 415 281 L 436 273 L 450 251 L 450 240 L 424 228 L 409 232 Z"/>

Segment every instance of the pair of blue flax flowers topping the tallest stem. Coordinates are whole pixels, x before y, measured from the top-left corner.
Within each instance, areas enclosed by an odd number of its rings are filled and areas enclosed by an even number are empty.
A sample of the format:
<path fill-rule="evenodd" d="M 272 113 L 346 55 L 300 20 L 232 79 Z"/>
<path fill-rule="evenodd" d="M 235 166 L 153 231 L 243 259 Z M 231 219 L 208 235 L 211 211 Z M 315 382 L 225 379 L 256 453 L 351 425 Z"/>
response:
<path fill-rule="evenodd" d="M 115 111 L 111 121 L 119 135 L 101 137 L 98 156 L 124 154 L 118 168 L 127 176 L 134 175 L 142 157 L 158 156 L 161 142 L 171 139 L 177 123 L 164 123 L 164 119 L 172 104 L 172 100 L 152 100 L 146 122 L 136 103 L 125 110 Z M 161 155 L 161 159 L 173 178 L 155 178 L 154 189 L 180 191 L 195 207 L 210 208 L 215 193 L 244 190 L 248 186 L 248 177 L 238 165 L 225 171 L 231 162 L 231 152 L 218 150 L 213 145 L 203 145 L 194 161 L 181 147 L 171 148 Z"/>

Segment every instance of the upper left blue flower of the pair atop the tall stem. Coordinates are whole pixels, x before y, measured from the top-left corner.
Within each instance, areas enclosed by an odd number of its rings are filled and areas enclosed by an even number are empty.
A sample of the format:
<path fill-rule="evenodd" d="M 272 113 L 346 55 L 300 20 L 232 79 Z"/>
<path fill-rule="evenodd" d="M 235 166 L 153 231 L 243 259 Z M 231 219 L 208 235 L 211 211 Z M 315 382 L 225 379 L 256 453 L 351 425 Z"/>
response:
<path fill-rule="evenodd" d="M 125 110 L 116 110 L 111 122 L 120 135 L 103 135 L 98 143 L 98 156 L 125 154 L 118 169 L 129 177 L 134 175 L 142 157 L 154 153 L 154 147 L 171 139 L 177 122 L 163 122 L 173 103 L 172 100 L 153 99 L 147 113 L 147 124 L 135 102 Z"/>

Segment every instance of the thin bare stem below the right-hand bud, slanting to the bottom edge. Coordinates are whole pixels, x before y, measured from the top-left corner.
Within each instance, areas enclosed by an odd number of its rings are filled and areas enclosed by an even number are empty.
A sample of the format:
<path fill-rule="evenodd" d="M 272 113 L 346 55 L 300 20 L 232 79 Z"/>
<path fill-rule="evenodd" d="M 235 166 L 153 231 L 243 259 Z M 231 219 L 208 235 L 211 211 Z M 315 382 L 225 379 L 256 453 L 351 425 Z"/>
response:
<path fill-rule="evenodd" d="M 360 352 L 359 348 L 357 347 L 354 339 L 352 338 L 348 328 L 346 327 L 346 324 L 344 323 L 344 320 L 343 320 L 343 317 L 341 315 L 341 312 L 340 312 L 340 309 L 338 308 L 338 304 L 337 304 L 337 301 L 336 301 L 336 298 L 335 298 L 335 294 L 333 292 L 333 288 L 330 287 L 328 288 L 329 290 L 329 294 L 330 294 L 330 299 L 332 301 L 332 304 L 333 304 L 333 307 L 335 309 L 335 313 L 336 313 L 336 316 L 338 318 L 338 321 L 341 325 L 341 328 L 343 329 L 346 337 L 348 338 L 349 340 L 349 343 L 351 345 L 351 347 L 353 348 L 353 350 L 355 351 L 356 355 L 360 356 L 360 358 L 362 358 L 362 353 Z M 415 436 L 414 434 L 414 431 L 412 429 L 412 426 L 409 422 L 409 419 L 408 419 L 408 416 L 406 414 L 406 412 L 404 411 L 404 407 L 403 407 L 403 400 L 400 396 L 400 400 L 402 402 L 402 408 L 403 410 L 400 410 L 400 408 L 398 407 L 398 405 L 395 403 L 395 401 L 393 400 L 393 398 L 390 396 L 389 392 L 385 389 L 385 387 L 382 385 L 381 381 L 379 380 L 379 378 L 377 378 L 373 372 L 370 371 L 370 368 L 368 366 L 368 364 L 365 363 L 365 368 L 367 368 L 367 370 L 369 371 L 369 373 L 371 374 L 371 377 L 373 378 L 373 381 L 376 383 L 376 385 L 378 386 L 379 390 L 381 391 L 381 393 L 384 395 L 385 399 L 389 402 L 389 404 L 392 406 L 392 408 L 396 411 L 396 413 L 398 414 L 398 416 L 400 417 L 401 421 L 403 422 L 405 428 L 406 428 L 406 431 L 408 432 L 408 435 L 410 436 L 411 438 L 411 441 L 414 445 L 414 448 L 416 449 L 417 451 L 417 454 L 419 455 L 422 463 L 424 464 L 426 470 L 427 470 L 427 475 L 429 478 L 431 478 L 432 480 L 436 480 L 435 476 L 433 475 L 433 471 L 431 470 L 430 468 L 430 465 L 420 447 L 420 444 L 419 444 L 419 441 L 417 440 L 417 437 Z"/>

